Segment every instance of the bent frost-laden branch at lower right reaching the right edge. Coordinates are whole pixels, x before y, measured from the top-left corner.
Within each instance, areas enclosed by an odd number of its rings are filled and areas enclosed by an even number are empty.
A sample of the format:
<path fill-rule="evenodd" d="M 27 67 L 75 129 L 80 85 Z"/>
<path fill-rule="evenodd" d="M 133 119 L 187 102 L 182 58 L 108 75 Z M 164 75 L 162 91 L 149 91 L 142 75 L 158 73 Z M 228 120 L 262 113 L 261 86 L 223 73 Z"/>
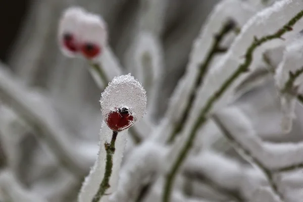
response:
<path fill-rule="evenodd" d="M 248 118 L 236 107 L 229 107 L 217 113 L 214 120 L 231 141 L 231 144 L 248 162 L 259 167 L 267 177 L 273 191 L 281 198 L 287 199 L 280 189 L 281 180 L 278 172 L 283 169 L 295 171 L 303 159 L 303 142 L 270 143 L 264 142 L 254 132 Z M 290 171 L 290 170 L 288 170 Z"/>

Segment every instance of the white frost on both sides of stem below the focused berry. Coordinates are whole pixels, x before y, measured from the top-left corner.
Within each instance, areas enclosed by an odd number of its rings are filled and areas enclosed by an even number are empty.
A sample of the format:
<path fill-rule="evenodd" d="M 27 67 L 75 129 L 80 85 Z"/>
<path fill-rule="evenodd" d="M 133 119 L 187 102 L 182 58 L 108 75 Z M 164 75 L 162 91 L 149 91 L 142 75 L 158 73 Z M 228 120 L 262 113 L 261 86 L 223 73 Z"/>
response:
<path fill-rule="evenodd" d="M 98 157 L 91 168 L 89 175 L 85 178 L 82 188 L 78 196 L 78 202 L 91 201 L 95 193 L 97 192 L 99 185 L 104 177 L 105 164 L 106 164 L 106 150 L 104 147 L 105 142 L 110 142 L 113 131 L 103 121 L 102 128 L 100 130 L 99 152 Z M 127 129 L 118 133 L 115 143 L 115 154 L 113 156 L 113 169 L 110 178 L 110 188 L 106 193 L 113 193 L 117 189 L 119 171 L 121 167 L 123 152 L 127 141 Z M 109 196 L 104 195 L 101 202 L 108 202 Z"/>

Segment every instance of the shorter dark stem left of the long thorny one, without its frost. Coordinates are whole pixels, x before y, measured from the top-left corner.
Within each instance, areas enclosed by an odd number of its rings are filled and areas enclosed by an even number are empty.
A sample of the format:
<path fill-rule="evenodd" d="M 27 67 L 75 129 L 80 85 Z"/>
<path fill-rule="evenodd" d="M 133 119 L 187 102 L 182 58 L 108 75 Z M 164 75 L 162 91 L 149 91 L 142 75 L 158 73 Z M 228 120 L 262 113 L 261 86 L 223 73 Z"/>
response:
<path fill-rule="evenodd" d="M 236 28 L 236 24 L 235 24 L 234 20 L 229 19 L 229 20 L 227 20 L 227 22 L 225 22 L 223 24 L 221 30 L 217 34 L 214 35 L 214 41 L 211 46 L 211 49 L 206 57 L 206 60 L 200 64 L 198 78 L 196 79 L 196 81 L 194 83 L 194 87 L 192 88 L 191 93 L 189 95 L 189 100 L 188 100 L 188 103 L 184 110 L 183 116 L 182 116 L 181 120 L 175 125 L 175 128 L 168 139 L 169 143 L 174 141 L 176 135 L 183 128 L 184 123 L 186 122 L 186 120 L 188 118 L 190 109 L 193 106 L 192 104 L 195 99 L 196 89 L 201 83 L 203 83 L 204 77 L 209 70 L 209 66 L 210 66 L 213 58 L 215 57 L 216 54 L 226 51 L 226 48 L 220 47 L 221 41 L 224 39 L 224 36 L 226 36 L 228 33 L 230 33 L 230 31 L 235 30 L 235 28 Z"/>

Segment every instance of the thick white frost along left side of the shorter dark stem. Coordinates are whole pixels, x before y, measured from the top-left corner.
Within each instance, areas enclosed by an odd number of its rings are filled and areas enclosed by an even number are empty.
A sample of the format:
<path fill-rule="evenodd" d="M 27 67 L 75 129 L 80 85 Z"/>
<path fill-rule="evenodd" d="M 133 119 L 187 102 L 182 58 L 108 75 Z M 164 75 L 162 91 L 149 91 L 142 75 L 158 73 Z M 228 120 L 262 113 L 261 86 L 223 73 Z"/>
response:
<path fill-rule="evenodd" d="M 182 116 L 188 102 L 189 93 L 198 76 L 199 65 L 207 57 L 213 43 L 214 34 L 218 33 L 226 19 L 232 18 L 241 27 L 255 12 L 249 5 L 236 0 L 222 1 L 214 8 L 206 25 L 201 28 L 199 37 L 193 44 L 185 76 L 178 82 L 168 105 L 166 117 L 173 123 Z"/>

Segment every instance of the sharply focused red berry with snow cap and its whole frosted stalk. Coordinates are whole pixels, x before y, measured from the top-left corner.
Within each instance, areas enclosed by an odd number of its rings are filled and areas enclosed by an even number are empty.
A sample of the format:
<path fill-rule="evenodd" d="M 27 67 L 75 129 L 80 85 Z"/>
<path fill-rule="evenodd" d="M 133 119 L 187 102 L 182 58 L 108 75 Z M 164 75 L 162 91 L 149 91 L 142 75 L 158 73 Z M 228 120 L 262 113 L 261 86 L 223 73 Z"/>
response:
<path fill-rule="evenodd" d="M 130 74 L 115 77 L 101 95 L 104 117 L 99 154 L 86 177 L 78 201 L 108 201 L 117 189 L 126 132 L 146 111 L 146 91 Z"/>

